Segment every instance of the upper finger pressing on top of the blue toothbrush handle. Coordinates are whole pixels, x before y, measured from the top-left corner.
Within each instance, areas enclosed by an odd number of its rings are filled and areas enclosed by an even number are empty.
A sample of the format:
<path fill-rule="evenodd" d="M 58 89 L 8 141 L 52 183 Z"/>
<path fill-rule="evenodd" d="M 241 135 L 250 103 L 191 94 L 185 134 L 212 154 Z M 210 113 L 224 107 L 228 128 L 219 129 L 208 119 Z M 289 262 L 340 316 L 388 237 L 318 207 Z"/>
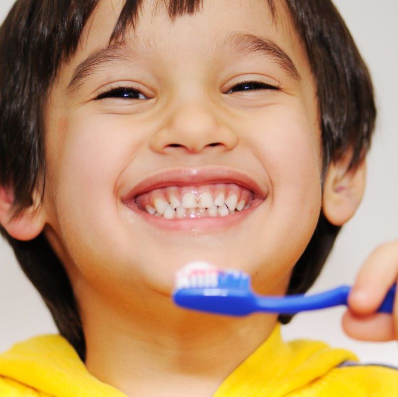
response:
<path fill-rule="evenodd" d="M 348 297 L 350 309 L 358 315 L 375 312 L 387 291 L 397 281 L 398 243 L 378 247 L 360 269 Z"/>

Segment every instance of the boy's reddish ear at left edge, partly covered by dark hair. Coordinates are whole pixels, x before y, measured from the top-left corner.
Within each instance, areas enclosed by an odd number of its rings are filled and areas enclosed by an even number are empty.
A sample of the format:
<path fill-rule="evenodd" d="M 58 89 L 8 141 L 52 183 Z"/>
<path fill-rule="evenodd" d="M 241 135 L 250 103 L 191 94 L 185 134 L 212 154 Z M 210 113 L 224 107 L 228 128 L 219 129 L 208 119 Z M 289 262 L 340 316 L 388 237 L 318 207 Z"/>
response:
<path fill-rule="evenodd" d="M 13 192 L 0 186 L 1 226 L 14 239 L 23 241 L 34 239 L 42 232 L 45 224 L 39 195 L 35 194 L 32 205 L 16 216 L 14 216 L 13 201 Z"/>

